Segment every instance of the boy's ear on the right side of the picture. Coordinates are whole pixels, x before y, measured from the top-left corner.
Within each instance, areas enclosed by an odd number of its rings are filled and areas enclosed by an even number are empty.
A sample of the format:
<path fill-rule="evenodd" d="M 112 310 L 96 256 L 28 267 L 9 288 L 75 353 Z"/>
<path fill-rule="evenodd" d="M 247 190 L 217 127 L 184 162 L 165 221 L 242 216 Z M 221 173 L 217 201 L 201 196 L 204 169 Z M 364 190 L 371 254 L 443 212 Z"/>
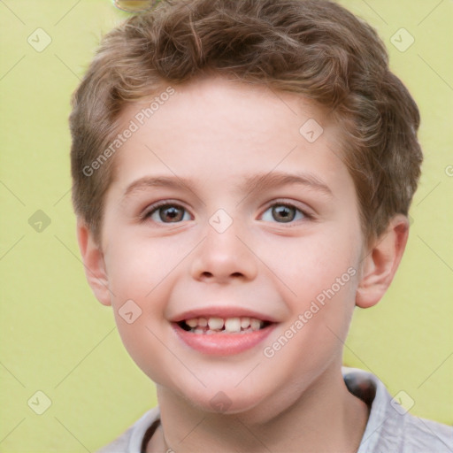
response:
<path fill-rule="evenodd" d="M 372 307 L 384 296 L 403 257 L 408 236 L 409 221 L 398 214 L 390 220 L 387 230 L 372 242 L 363 259 L 356 294 L 358 307 Z"/>

